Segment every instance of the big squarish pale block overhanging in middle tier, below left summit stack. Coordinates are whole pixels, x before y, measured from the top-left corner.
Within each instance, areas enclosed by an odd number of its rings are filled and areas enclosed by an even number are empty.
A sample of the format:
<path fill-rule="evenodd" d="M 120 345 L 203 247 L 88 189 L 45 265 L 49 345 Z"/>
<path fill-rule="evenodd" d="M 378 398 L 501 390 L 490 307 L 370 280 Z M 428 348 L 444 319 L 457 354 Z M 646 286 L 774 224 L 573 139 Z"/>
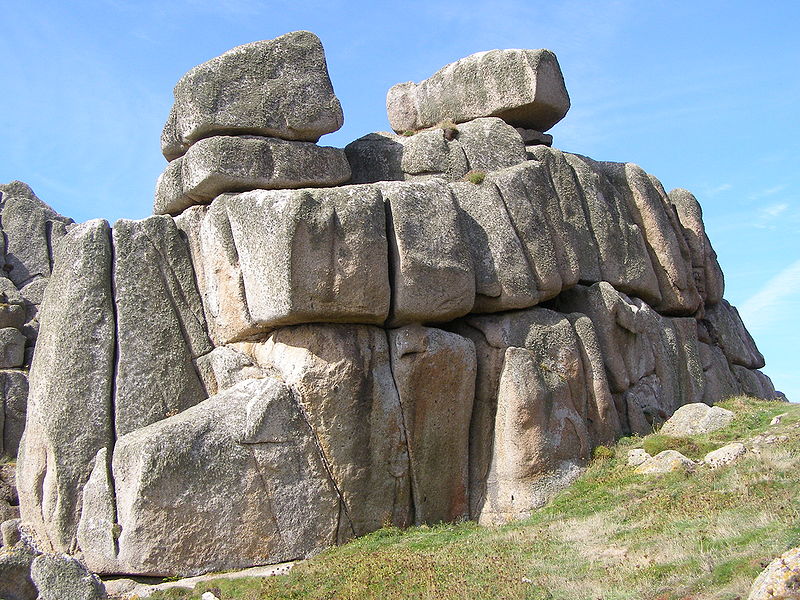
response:
<path fill-rule="evenodd" d="M 377 325 L 389 312 L 386 217 L 375 187 L 225 195 L 200 237 L 218 344 L 294 323 Z"/>

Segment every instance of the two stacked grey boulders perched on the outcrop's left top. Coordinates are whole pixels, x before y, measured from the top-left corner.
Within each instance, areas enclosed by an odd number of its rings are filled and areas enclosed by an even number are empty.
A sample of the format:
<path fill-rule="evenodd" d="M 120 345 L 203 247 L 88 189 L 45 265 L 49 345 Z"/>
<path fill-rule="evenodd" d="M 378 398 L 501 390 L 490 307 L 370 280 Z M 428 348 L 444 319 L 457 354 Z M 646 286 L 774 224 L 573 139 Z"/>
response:
<path fill-rule="evenodd" d="M 234 48 L 175 86 L 161 136 L 170 163 L 156 186 L 155 213 L 179 214 L 223 192 L 344 183 L 350 168 L 342 151 L 316 145 L 342 123 L 313 33 Z"/>

